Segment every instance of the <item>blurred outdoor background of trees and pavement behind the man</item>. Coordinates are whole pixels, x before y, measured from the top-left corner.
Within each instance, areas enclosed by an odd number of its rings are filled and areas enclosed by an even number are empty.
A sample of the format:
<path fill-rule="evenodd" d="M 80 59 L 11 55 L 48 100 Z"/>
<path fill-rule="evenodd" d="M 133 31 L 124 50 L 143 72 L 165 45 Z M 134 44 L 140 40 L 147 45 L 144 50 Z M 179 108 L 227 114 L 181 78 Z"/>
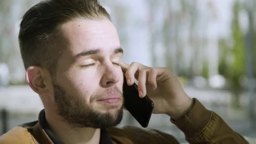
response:
<path fill-rule="evenodd" d="M 0 0 L 0 135 L 43 109 L 26 84 L 18 45 L 23 14 L 39 0 Z M 99 0 L 112 16 L 123 61 L 167 67 L 190 97 L 256 144 L 255 0 Z M 123 125 L 140 125 L 125 111 Z M 148 128 L 184 134 L 166 115 Z"/>

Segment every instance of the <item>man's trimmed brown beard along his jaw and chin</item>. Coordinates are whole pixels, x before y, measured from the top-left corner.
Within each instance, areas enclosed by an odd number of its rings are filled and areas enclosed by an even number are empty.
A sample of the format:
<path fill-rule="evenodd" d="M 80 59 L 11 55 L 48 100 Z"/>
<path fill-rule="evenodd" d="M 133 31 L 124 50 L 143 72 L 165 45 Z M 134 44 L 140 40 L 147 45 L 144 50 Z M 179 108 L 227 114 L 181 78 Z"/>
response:
<path fill-rule="evenodd" d="M 53 88 L 57 113 L 71 127 L 109 128 L 118 125 L 122 120 L 122 107 L 113 113 L 103 113 L 87 105 L 85 98 L 83 99 L 79 95 L 68 95 L 65 90 L 54 83 Z"/>

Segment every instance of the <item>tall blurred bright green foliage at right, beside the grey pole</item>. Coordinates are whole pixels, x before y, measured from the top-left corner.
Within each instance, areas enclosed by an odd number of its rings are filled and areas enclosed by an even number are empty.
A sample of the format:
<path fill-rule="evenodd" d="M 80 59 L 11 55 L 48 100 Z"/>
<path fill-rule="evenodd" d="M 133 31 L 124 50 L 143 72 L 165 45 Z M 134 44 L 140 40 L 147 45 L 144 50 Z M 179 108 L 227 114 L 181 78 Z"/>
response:
<path fill-rule="evenodd" d="M 241 91 L 240 78 L 245 74 L 245 36 L 239 26 L 239 12 L 241 4 L 234 3 L 232 23 L 232 45 L 227 41 L 219 43 L 221 49 L 219 72 L 224 75 L 230 83 L 233 92 L 233 106 L 239 107 L 239 94 Z"/>

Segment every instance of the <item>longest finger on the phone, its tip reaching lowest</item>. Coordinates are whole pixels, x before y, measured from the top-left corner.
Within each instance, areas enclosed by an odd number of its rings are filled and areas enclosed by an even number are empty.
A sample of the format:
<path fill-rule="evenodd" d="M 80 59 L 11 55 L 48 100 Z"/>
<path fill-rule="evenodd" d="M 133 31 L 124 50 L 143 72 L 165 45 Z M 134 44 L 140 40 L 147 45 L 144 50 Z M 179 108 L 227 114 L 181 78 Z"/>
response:
<path fill-rule="evenodd" d="M 146 80 L 147 80 L 147 69 L 143 69 L 139 72 L 139 77 L 138 77 L 138 91 L 139 91 L 139 96 L 143 98 L 146 93 Z"/>

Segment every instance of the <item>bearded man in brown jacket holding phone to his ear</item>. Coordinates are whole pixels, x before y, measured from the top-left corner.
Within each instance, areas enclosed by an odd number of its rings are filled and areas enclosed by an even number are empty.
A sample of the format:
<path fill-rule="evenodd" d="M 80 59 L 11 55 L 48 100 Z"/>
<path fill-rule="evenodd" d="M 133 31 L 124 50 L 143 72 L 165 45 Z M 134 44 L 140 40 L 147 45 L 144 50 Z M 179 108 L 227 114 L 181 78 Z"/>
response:
<path fill-rule="evenodd" d="M 47 0 L 20 24 L 26 81 L 39 94 L 39 120 L 0 137 L 0 144 L 178 144 L 158 130 L 116 128 L 122 119 L 122 85 L 138 79 L 140 97 L 154 102 L 190 143 L 246 144 L 216 113 L 187 96 L 166 68 L 121 62 L 123 50 L 110 16 L 97 0 Z"/>

